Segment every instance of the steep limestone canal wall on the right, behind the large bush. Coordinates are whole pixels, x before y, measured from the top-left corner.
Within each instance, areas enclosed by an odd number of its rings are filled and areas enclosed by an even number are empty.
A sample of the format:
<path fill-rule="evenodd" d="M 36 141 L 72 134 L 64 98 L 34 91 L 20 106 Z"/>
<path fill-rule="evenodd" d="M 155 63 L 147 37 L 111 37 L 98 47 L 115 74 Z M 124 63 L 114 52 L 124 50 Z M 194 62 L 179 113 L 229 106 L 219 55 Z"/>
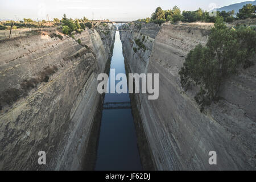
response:
<path fill-rule="evenodd" d="M 135 26 L 134 26 L 135 28 Z M 223 100 L 201 113 L 184 92 L 179 70 L 187 53 L 205 45 L 210 30 L 172 24 L 146 24 L 141 30 L 121 31 L 123 55 L 130 73 L 159 73 L 159 98 L 137 94 L 136 102 L 155 166 L 159 170 L 253 169 L 256 166 L 256 66 L 226 80 Z M 143 40 L 146 51 L 135 44 Z M 210 165 L 209 151 L 217 152 Z"/>

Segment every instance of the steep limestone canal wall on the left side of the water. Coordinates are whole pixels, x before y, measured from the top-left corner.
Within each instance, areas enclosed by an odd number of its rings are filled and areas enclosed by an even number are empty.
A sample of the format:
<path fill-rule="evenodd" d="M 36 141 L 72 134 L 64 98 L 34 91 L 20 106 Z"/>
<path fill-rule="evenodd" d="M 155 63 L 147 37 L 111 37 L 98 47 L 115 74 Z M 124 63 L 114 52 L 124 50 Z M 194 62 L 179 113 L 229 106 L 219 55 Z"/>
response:
<path fill-rule="evenodd" d="M 81 169 L 114 35 L 86 28 L 73 39 L 53 28 L 1 40 L 0 169 Z"/>

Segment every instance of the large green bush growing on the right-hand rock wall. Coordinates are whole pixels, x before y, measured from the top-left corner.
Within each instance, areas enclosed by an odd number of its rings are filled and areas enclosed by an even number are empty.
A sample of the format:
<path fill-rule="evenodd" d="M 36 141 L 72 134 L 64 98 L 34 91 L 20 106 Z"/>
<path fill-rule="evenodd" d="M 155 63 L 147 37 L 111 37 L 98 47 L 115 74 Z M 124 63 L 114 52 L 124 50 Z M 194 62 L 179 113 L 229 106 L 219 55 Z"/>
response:
<path fill-rule="evenodd" d="M 228 28 L 223 18 L 217 18 L 206 46 L 199 44 L 190 51 L 179 72 L 181 86 L 200 86 L 195 96 L 201 111 L 205 105 L 218 100 L 224 79 L 237 73 L 238 68 L 254 65 L 256 32 L 250 27 Z"/>

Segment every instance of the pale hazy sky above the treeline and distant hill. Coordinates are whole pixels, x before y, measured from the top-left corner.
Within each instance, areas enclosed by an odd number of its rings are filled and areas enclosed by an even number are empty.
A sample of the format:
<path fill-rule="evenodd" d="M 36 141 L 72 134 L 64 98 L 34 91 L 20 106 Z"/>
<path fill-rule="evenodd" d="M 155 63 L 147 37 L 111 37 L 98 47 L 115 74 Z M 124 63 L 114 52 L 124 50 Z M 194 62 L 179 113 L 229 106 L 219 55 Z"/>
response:
<path fill-rule="evenodd" d="M 177 5 L 181 10 L 210 10 L 245 0 L 0 0 L 0 19 L 68 18 L 135 20 L 150 17 L 156 7 L 167 10 Z"/>

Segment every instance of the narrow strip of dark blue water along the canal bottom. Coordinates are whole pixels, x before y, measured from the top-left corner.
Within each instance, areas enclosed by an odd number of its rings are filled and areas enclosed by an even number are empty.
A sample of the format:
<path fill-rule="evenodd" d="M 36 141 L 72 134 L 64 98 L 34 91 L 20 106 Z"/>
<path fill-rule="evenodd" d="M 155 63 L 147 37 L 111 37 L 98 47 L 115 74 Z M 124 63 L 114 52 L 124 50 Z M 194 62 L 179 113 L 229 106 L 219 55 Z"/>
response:
<path fill-rule="evenodd" d="M 118 31 L 115 34 L 110 68 L 115 69 L 115 75 L 125 73 L 122 43 Z M 111 80 L 110 77 L 110 82 L 115 81 Z M 131 109 L 126 108 L 130 106 L 129 94 L 110 94 L 109 92 L 109 94 L 105 94 L 104 104 L 108 107 L 102 111 L 95 169 L 100 171 L 142 170 L 133 115 Z"/>

